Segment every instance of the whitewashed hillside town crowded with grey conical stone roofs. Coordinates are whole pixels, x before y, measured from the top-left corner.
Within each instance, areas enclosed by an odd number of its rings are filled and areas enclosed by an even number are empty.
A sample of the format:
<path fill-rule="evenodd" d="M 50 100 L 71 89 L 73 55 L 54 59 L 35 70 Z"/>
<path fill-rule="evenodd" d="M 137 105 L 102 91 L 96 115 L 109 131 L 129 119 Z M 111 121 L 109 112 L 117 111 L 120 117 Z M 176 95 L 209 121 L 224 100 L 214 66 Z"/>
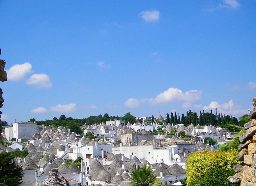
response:
<path fill-rule="evenodd" d="M 158 113 L 154 120 L 164 122 Z M 171 184 L 187 177 L 185 158 L 196 151 L 216 150 L 205 143 L 206 137 L 225 143 L 232 138 L 231 132 L 220 127 L 171 125 L 164 128 L 155 123 L 125 124 L 123 120 L 106 121 L 99 125 L 81 126 L 83 134 L 92 133 L 93 138 L 81 136 L 66 127 L 37 125 L 36 122 L 14 122 L 4 129 L 2 138 L 10 142 L 0 145 L 0 153 L 15 150 L 28 151 L 24 158 L 15 158 L 24 173 L 22 184 L 46 185 L 47 181 L 63 177 L 60 185 L 129 185 L 132 169 L 151 166 L 162 182 Z M 162 129 L 165 135 L 150 134 Z M 169 138 L 168 132 L 176 133 Z M 185 141 L 180 132 L 185 133 Z M 12 139 L 15 139 L 11 141 Z M 229 139 L 229 140 L 228 140 Z M 80 164 L 77 166 L 75 162 Z M 70 163 L 67 166 L 67 163 Z M 57 176 L 57 177 L 56 177 Z"/>

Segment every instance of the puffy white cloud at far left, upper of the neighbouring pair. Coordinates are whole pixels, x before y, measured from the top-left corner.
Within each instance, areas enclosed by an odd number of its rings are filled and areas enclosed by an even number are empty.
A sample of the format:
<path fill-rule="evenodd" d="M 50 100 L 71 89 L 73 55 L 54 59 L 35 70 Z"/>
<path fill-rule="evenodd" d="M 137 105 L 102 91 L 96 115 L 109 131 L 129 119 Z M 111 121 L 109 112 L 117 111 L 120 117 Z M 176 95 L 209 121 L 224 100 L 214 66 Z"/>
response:
<path fill-rule="evenodd" d="M 25 78 L 26 74 L 33 73 L 32 65 L 28 62 L 24 64 L 16 64 L 6 70 L 8 80 L 20 81 Z"/>

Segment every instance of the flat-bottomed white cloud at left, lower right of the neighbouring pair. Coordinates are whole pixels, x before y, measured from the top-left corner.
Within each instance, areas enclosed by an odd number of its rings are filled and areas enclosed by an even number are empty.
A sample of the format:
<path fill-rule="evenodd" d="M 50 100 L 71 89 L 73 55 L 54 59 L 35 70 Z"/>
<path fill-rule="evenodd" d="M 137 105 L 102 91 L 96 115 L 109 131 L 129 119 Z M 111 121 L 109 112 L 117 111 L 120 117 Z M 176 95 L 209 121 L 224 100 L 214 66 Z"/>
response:
<path fill-rule="evenodd" d="M 29 85 L 36 85 L 38 88 L 50 88 L 52 83 L 47 74 L 32 74 L 26 81 Z"/>

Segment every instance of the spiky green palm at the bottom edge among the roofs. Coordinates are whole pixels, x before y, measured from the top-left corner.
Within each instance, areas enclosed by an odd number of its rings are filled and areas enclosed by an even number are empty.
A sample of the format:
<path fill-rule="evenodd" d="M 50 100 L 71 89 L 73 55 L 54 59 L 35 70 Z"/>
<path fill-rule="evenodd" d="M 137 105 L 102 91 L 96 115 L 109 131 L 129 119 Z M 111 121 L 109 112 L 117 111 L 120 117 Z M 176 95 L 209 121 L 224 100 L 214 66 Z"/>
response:
<path fill-rule="evenodd" d="M 131 169 L 130 186 L 150 186 L 156 183 L 157 175 L 152 171 L 151 166 L 144 165 L 143 168 Z"/>

